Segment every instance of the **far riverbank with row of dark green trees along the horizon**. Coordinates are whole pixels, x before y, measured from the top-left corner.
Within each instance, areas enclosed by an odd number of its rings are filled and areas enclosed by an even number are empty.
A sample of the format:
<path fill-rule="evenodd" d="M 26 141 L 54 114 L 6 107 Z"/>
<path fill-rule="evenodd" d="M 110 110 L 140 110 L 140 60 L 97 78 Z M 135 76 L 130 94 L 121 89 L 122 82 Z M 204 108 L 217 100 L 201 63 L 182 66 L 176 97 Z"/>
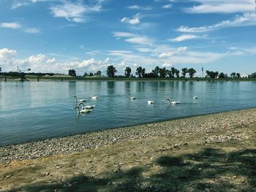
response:
<path fill-rule="evenodd" d="M 75 69 L 69 69 L 68 74 L 35 73 L 29 71 L 0 72 L 0 80 L 15 80 L 19 78 L 21 80 L 256 80 L 256 72 L 249 75 L 232 72 L 228 75 L 224 72 L 204 71 L 203 68 L 201 72 L 197 72 L 193 68 L 182 68 L 179 70 L 175 67 L 166 69 L 165 67 L 159 68 L 159 66 L 156 66 L 151 72 L 146 72 L 145 68 L 138 66 L 134 74 L 132 74 L 132 69 L 127 66 L 124 69 L 124 74 L 117 74 L 116 67 L 110 65 L 106 70 L 106 76 L 102 75 L 100 70 L 97 72 L 85 72 L 83 76 L 78 76 Z"/>

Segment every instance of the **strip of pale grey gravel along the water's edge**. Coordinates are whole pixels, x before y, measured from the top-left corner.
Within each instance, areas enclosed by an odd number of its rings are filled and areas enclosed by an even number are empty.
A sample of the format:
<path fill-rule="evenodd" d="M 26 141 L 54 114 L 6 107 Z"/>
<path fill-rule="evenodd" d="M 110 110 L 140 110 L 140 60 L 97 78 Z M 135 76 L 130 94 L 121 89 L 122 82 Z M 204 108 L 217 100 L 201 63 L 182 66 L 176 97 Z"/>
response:
<path fill-rule="evenodd" d="M 56 154 L 69 154 L 86 148 L 114 145 L 135 139 L 166 137 L 181 133 L 197 134 L 214 132 L 223 128 L 246 126 L 255 122 L 256 109 L 249 109 L 168 120 L 159 123 L 148 123 L 140 126 L 108 129 L 69 137 L 45 139 L 43 141 L 0 147 L 0 163 L 9 164 L 11 161 L 20 161 Z M 232 138 L 232 135 L 229 137 Z"/>

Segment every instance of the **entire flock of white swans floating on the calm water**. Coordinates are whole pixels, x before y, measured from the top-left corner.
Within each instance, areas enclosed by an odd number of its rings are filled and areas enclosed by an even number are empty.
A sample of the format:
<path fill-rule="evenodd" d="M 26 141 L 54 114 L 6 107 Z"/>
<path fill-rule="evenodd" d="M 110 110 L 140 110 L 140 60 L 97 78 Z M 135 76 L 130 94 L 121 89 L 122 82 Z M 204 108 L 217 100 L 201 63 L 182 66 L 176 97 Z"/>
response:
<path fill-rule="evenodd" d="M 130 94 L 128 96 L 129 96 L 129 100 L 137 99 L 137 97 L 131 96 Z M 74 96 L 74 98 L 75 98 L 75 104 L 76 104 L 75 105 L 75 110 L 77 110 L 78 115 L 82 114 L 82 113 L 88 113 L 88 112 L 91 112 L 92 110 L 94 110 L 95 105 L 85 105 L 84 104 L 87 101 L 86 99 L 78 99 L 77 96 Z M 97 96 L 90 96 L 90 99 L 91 100 L 97 100 L 98 97 Z M 198 96 L 196 96 L 196 95 L 193 96 L 193 99 L 198 99 Z M 170 101 L 170 99 L 165 99 L 165 100 L 168 101 L 170 105 L 180 103 L 179 101 Z M 147 104 L 154 104 L 154 101 L 148 100 Z M 80 106 L 82 106 L 81 110 L 80 110 Z"/>

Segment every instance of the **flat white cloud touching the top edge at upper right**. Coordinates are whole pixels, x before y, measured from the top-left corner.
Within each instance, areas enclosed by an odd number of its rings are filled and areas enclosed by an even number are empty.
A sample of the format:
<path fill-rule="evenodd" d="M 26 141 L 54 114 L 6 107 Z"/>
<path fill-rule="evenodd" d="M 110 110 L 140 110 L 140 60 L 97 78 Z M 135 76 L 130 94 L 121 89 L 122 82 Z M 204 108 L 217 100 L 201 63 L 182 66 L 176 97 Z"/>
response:
<path fill-rule="evenodd" d="M 252 12 L 255 10 L 255 1 L 252 0 L 192 0 L 200 3 L 185 9 L 191 13 L 233 13 Z"/>

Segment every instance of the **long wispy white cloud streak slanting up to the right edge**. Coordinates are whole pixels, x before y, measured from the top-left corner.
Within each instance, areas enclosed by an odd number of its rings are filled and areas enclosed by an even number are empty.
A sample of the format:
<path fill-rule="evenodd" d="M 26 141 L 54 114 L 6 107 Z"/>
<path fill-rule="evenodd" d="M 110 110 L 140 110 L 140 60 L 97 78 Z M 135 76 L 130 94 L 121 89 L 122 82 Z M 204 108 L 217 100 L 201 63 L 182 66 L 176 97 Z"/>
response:
<path fill-rule="evenodd" d="M 256 13 L 245 13 L 242 16 L 236 16 L 233 20 L 222 20 L 222 22 L 212 26 L 201 26 L 189 28 L 188 26 L 181 26 L 178 28 L 180 32 L 186 33 L 202 33 L 206 31 L 213 31 L 219 28 L 233 28 L 240 26 L 256 26 Z"/>

